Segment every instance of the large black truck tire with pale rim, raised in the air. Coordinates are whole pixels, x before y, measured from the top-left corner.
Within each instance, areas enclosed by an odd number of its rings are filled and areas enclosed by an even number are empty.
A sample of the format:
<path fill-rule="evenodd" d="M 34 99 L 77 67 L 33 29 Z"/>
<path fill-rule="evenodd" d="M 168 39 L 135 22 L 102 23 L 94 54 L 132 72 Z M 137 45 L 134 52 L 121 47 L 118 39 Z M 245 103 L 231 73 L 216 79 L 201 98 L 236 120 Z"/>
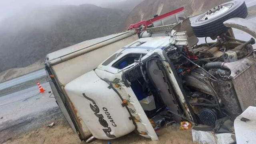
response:
<path fill-rule="evenodd" d="M 224 21 L 236 17 L 246 18 L 248 15 L 246 4 L 242 0 L 226 2 L 211 11 L 212 14 L 209 14 L 209 10 L 190 18 L 191 27 L 197 37 L 216 37 L 228 29 L 224 26 Z"/>

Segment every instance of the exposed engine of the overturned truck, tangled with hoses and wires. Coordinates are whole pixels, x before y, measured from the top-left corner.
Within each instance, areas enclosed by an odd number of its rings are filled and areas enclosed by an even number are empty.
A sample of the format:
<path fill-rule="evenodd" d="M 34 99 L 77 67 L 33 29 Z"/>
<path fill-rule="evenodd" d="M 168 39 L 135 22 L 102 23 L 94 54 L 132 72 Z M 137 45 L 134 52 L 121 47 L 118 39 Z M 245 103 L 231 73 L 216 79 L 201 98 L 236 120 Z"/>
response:
<path fill-rule="evenodd" d="M 220 118 L 234 120 L 241 114 L 231 72 L 225 65 L 251 56 L 252 44 L 255 44 L 253 38 L 242 42 L 222 36 L 215 43 L 167 50 L 200 124 L 213 126 Z"/>

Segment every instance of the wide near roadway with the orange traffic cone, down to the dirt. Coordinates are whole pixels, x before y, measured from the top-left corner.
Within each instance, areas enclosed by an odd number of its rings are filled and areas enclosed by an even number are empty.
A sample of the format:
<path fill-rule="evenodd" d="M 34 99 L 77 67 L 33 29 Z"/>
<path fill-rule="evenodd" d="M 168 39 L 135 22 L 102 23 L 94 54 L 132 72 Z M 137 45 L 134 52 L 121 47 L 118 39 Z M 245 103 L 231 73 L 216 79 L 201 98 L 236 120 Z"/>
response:
<path fill-rule="evenodd" d="M 36 84 L 35 84 L 36 85 Z M 38 86 L 0 97 L 0 143 L 22 132 L 47 126 L 63 117 L 49 83 L 39 93 Z"/>

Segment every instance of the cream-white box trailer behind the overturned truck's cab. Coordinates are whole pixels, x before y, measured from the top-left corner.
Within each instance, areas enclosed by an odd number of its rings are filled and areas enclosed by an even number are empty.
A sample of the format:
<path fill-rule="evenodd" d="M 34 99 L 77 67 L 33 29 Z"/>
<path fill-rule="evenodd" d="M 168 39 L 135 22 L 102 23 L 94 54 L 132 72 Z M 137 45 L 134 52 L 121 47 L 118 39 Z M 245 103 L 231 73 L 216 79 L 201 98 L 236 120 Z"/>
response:
<path fill-rule="evenodd" d="M 76 108 L 67 97 L 64 86 L 82 74 L 95 69 L 118 49 L 137 39 L 138 36 L 135 31 L 122 32 L 85 41 L 48 54 L 46 57 L 46 70 L 49 74 L 54 75 L 53 83 L 50 85 L 54 96 L 56 96 L 56 102 L 81 140 L 86 140 L 91 133 L 85 124 L 80 123 L 76 116 Z"/>

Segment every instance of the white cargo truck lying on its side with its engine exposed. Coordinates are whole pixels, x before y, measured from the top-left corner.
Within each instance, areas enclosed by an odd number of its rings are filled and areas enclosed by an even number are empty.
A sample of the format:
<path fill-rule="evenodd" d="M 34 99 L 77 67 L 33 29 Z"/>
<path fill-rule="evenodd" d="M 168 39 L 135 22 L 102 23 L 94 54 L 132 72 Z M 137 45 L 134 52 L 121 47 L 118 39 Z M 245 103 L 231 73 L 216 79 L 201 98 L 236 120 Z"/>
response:
<path fill-rule="evenodd" d="M 245 3 L 234 0 L 178 24 L 50 53 L 46 70 L 56 102 L 81 140 L 132 131 L 158 140 L 156 130 L 181 121 L 231 136 L 234 119 L 256 105 L 256 31 L 246 16 Z M 254 38 L 237 40 L 232 28 Z"/>

